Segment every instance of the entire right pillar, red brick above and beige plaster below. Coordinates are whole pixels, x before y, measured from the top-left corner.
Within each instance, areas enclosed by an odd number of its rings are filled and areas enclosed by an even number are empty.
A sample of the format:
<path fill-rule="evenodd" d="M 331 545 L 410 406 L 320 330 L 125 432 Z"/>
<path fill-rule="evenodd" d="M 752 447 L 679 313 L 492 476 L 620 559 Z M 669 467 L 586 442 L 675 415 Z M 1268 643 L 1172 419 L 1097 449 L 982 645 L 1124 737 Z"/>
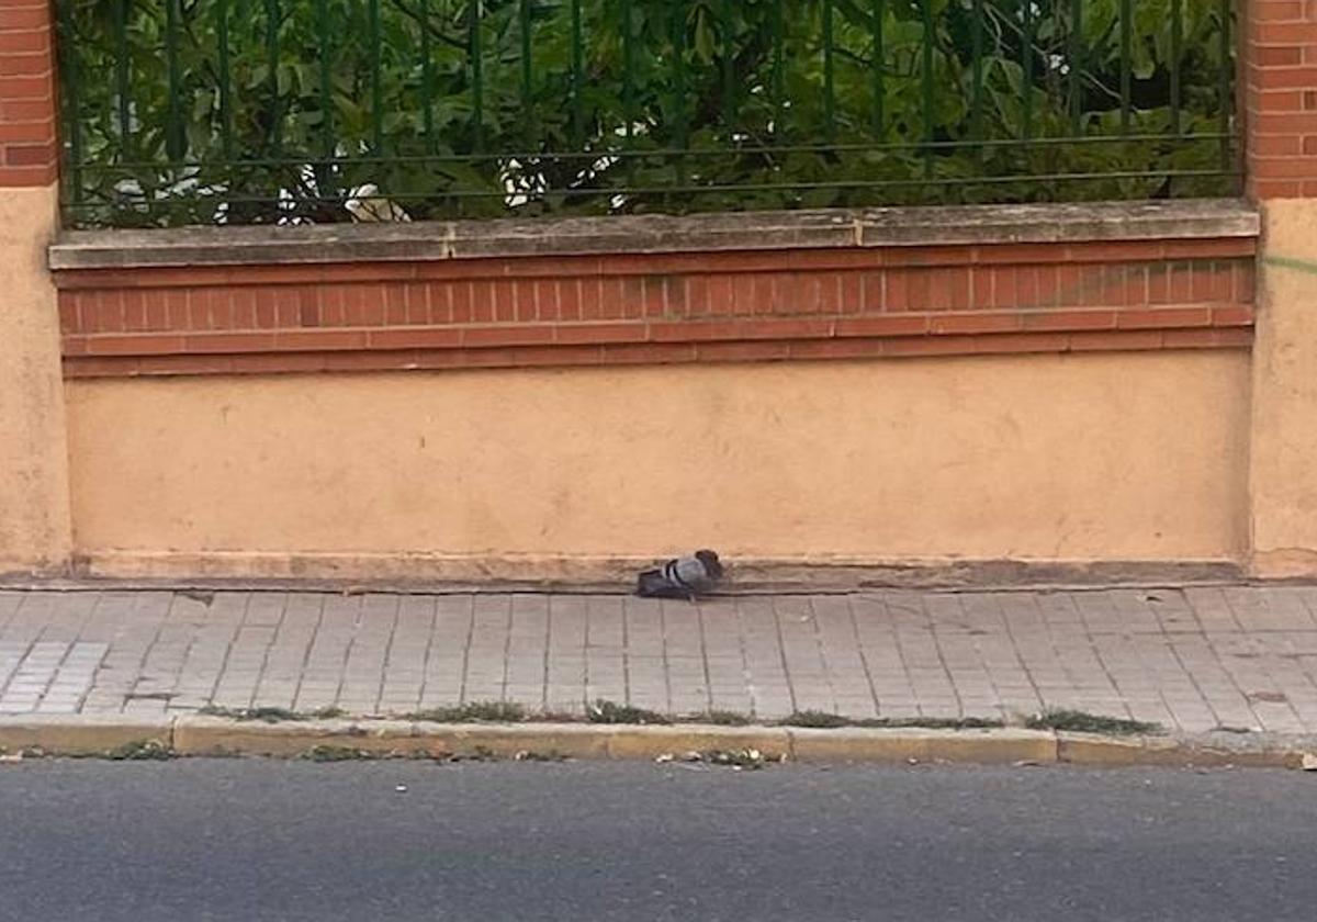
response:
<path fill-rule="evenodd" d="M 1249 195 L 1262 209 L 1249 544 L 1317 577 L 1317 0 L 1245 0 Z"/>

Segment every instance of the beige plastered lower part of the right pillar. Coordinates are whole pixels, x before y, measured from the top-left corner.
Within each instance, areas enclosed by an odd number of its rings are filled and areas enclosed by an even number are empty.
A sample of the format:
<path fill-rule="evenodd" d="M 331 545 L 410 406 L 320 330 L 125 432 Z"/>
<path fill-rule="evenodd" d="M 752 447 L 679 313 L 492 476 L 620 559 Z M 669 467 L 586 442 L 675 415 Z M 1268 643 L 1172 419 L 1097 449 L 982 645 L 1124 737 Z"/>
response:
<path fill-rule="evenodd" d="M 1254 349 L 1254 570 L 1317 576 L 1317 202 L 1266 203 L 1262 252 Z"/>

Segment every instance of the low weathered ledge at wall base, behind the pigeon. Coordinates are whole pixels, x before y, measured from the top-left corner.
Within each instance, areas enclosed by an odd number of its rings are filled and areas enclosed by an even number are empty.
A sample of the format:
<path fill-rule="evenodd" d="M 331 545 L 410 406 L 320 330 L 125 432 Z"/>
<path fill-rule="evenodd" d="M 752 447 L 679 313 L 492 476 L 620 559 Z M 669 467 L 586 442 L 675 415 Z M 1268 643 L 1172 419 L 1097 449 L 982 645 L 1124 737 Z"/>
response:
<path fill-rule="evenodd" d="M 45 590 L 284 590 L 491 593 L 630 591 L 653 557 L 332 555 L 261 552 L 84 551 L 71 572 L 34 577 L 0 570 L 0 587 Z M 909 560 L 805 561 L 738 558 L 727 594 L 869 589 L 1036 589 L 1237 583 L 1231 561 Z"/>

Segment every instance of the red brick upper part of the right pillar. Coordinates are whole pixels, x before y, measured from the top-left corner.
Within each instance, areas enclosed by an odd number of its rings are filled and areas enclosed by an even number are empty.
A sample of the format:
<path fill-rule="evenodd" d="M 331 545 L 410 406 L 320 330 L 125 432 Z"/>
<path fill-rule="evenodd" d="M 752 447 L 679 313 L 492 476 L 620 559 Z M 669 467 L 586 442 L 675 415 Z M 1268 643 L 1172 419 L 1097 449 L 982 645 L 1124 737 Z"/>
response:
<path fill-rule="evenodd" d="M 1249 0 L 1247 9 L 1250 194 L 1317 198 L 1317 0 Z"/>

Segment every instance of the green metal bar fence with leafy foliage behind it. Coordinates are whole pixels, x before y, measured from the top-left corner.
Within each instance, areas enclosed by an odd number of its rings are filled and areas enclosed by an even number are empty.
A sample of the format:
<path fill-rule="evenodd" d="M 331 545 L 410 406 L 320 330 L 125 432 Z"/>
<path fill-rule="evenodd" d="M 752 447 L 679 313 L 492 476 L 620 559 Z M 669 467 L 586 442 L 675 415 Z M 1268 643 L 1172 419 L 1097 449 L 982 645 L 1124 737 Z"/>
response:
<path fill-rule="evenodd" d="M 1231 0 L 59 0 L 75 225 L 1166 198 Z"/>

